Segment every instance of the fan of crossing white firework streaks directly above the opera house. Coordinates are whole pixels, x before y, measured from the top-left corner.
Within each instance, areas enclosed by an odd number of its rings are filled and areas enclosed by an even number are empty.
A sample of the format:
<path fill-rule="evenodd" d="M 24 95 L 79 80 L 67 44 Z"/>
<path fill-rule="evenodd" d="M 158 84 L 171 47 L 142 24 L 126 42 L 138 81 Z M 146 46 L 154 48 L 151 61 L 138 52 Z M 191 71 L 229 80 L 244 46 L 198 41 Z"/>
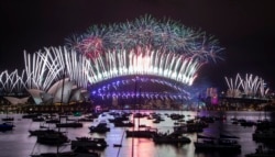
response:
<path fill-rule="evenodd" d="M 47 91 L 64 75 L 75 80 L 78 87 L 87 87 L 87 77 L 84 72 L 85 58 L 75 51 L 66 47 L 44 48 L 34 54 L 24 53 L 26 81 L 29 89 L 40 89 Z"/>

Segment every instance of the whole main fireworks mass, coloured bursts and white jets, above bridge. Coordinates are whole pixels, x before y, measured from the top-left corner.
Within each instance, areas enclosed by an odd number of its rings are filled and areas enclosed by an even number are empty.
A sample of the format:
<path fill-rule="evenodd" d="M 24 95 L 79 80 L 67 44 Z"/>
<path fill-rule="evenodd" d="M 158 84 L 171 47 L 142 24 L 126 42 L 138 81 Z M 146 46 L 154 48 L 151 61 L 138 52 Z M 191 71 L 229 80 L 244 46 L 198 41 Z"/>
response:
<path fill-rule="evenodd" d="M 1 86 L 10 92 L 48 91 L 64 76 L 82 89 L 124 76 L 154 76 L 191 86 L 201 66 L 221 59 L 222 51 L 202 31 L 145 15 L 120 24 L 92 25 L 87 33 L 67 38 L 64 47 L 24 53 L 22 76 L 2 72 Z"/>

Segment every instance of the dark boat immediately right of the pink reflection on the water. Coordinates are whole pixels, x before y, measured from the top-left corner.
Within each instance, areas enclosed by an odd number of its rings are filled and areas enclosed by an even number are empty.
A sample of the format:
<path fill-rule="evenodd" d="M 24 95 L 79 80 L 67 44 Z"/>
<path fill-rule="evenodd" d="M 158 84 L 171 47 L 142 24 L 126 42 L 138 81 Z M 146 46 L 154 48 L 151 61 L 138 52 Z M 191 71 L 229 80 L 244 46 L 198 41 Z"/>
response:
<path fill-rule="evenodd" d="M 191 139 L 178 133 L 157 133 L 153 136 L 155 144 L 189 144 Z"/>

